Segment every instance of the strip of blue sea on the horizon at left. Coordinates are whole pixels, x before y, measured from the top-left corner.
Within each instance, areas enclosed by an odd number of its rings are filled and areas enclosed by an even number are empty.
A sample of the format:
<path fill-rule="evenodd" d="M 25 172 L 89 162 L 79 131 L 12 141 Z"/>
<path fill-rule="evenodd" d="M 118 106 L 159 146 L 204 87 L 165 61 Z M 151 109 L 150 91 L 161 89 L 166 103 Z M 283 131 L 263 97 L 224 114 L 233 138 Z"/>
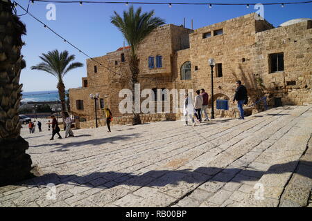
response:
<path fill-rule="evenodd" d="M 22 92 L 21 102 L 54 102 L 60 100 L 58 90 Z"/>

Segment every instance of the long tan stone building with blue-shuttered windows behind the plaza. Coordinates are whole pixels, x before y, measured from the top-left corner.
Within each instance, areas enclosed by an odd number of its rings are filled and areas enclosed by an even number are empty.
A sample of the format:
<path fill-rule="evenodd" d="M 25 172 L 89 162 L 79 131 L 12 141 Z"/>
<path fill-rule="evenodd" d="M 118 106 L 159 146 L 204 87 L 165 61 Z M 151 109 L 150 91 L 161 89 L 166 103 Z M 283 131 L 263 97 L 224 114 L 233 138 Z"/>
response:
<path fill-rule="evenodd" d="M 311 19 L 296 19 L 275 28 L 255 13 L 196 30 L 164 25 L 148 35 L 139 47 L 141 90 L 205 88 L 211 99 L 208 59 L 212 57 L 216 60 L 214 100 L 227 100 L 229 106 L 228 110 L 216 109 L 217 116 L 236 113 L 232 99 L 238 79 L 248 89 L 249 104 L 264 96 L 272 106 L 311 104 L 311 27 Z M 123 115 L 119 113 L 119 102 L 123 99 L 119 98 L 119 91 L 130 88 L 129 52 L 125 47 L 87 59 L 83 87 L 69 90 L 73 115 L 94 119 L 94 100 L 89 98 L 90 93 L 100 95 L 99 118 L 104 117 L 101 111 L 104 106 L 109 106 L 114 116 Z M 262 109 L 263 106 L 257 105 L 253 111 Z M 145 122 L 153 117 L 146 116 Z M 167 118 L 175 117 L 178 115 Z M 159 117 L 164 118 L 164 115 Z"/>

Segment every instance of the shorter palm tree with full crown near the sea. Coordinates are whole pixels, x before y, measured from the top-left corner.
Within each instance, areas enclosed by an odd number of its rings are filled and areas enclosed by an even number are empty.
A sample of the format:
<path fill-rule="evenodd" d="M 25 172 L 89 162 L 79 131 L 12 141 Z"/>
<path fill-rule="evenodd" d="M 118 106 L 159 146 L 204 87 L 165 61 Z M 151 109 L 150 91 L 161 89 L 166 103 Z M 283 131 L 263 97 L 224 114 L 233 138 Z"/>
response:
<path fill-rule="evenodd" d="M 39 56 L 43 62 L 37 64 L 37 66 L 32 66 L 32 70 L 44 70 L 46 73 L 49 73 L 55 76 L 58 79 L 58 95 L 60 96 L 60 102 L 62 105 L 62 112 L 67 111 L 67 105 L 65 102 L 65 85 L 64 85 L 64 76 L 73 70 L 74 68 L 82 67 L 83 64 L 80 62 L 72 62 L 75 59 L 75 55 L 69 55 L 67 50 L 63 52 L 58 52 L 58 50 L 49 51 L 47 54 L 42 53 L 42 56 Z M 63 119 L 64 123 L 64 119 Z"/>

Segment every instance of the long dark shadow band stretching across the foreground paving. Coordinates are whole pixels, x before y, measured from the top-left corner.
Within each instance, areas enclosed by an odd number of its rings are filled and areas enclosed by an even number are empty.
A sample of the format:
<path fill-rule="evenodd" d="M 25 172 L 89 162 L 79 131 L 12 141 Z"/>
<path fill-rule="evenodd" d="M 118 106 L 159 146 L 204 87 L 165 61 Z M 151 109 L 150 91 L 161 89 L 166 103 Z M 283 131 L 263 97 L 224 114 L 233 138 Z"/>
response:
<path fill-rule="evenodd" d="M 238 169 L 238 168 L 218 168 L 218 167 L 199 167 L 192 171 L 191 169 L 182 170 L 153 170 L 141 175 L 122 172 L 96 172 L 88 175 L 78 176 L 74 174 L 58 175 L 50 173 L 35 177 L 24 182 L 19 182 L 17 185 L 22 186 L 46 186 L 49 183 L 70 184 L 73 186 L 88 186 L 109 189 L 114 186 L 154 186 L 161 187 L 172 185 L 173 187 L 180 182 L 188 184 L 202 184 L 205 182 L 244 182 L 257 181 L 265 174 L 281 174 L 293 173 L 297 168 L 299 161 L 288 162 L 285 164 L 275 164 L 270 166 L 268 171 L 257 171 L 253 169 Z M 300 161 L 300 170 L 295 173 L 312 179 L 312 162 Z"/>

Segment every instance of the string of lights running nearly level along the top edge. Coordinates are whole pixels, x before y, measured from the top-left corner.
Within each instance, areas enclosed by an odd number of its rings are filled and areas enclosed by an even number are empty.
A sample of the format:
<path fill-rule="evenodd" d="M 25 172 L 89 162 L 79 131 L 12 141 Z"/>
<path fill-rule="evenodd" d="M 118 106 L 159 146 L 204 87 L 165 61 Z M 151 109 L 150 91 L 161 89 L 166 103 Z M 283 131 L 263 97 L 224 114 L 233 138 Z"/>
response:
<path fill-rule="evenodd" d="M 168 5 L 170 8 L 173 5 L 193 5 L 193 6 L 209 6 L 211 8 L 212 6 L 246 6 L 249 8 L 249 6 L 254 6 L 259 3 L 195 3 L 195 2 L 142 2 L 142 1 L 53 1 L 53 0 L 31 0 L 31 3 L 37 2 L 45 2 L 45 3 L 79 3 L 80 6 L 83 5 L 83 3 L 104 3 L 104 4 L 125 4 L 128 6 L 128 4 L 145 4 L 145 5 Z M 260 3 L 263 6 L 274 6 L 274 5 L 281 5 L 281 7 L 284 7 L 286 5 L 291 4 L 304 4 L 304 3 L 312 3 L 312 1 L 297 1 L 297 2 L 272 2 L 272 3 Z"/>

